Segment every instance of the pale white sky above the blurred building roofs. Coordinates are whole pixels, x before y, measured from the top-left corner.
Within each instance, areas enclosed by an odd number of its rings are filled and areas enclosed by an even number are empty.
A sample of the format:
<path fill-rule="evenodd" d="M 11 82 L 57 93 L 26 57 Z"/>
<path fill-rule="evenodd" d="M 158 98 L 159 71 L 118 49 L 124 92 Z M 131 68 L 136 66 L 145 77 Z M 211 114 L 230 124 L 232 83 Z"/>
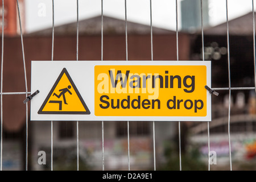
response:
<path fill-rule="evenodd" d="M 150 25 L 150 0 L 126 0 L 127 20 Z M 175 0 L 152 1 L 152 26 L 176 30 Z M 180 1 L 178 0 L 178 26 L 180 28 Z M 191 0 L 193 1 L 193 0 Z M 203 0 L 204 1 L 204 0 Z M 55 0 L 55 26 L 75 22 L 76 0 Z M 52 26 L 52 0 L 25 0 L 26 31 L 34 32 Z M 252 10 L 252 0 L 229 0 L 229 20 Z M 125 0 L 104 0 L 103 12 L 106 16 L 125 19 Z M 79 19 L 101 15 L 101 0 L 79 0 Z M 226 21 L 226 0 L 209 0 L 210 25 Z"/>

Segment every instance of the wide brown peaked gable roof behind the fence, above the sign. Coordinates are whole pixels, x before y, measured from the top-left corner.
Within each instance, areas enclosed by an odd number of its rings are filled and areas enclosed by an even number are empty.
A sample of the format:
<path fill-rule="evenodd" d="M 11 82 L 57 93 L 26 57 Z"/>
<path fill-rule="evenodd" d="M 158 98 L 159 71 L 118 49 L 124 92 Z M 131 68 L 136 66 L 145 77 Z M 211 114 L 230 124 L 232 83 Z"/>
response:
<path fill-rule="evenodd" d="M 112 18 L 109 16 L 103 17 L 104 35 L 106 34 L 125 34 L 125 20 Z M 72 22 L 55 26 L 55 35 L 76 35 L 77 23 Z M 127 22 L 127 34 L 150 34 L 150 26 Z M 152 27 L 154 34 L 172 34 L 174 31 L 165 30 L 163 28 Z M 79 21 L 79 35 L 100 35 L 101 34 L 101 16 L 96 16 L 89 19 Z M 29 36 L 50 36 L 52 35 L 52 28 L 40 30 L 27 34 Z"/>

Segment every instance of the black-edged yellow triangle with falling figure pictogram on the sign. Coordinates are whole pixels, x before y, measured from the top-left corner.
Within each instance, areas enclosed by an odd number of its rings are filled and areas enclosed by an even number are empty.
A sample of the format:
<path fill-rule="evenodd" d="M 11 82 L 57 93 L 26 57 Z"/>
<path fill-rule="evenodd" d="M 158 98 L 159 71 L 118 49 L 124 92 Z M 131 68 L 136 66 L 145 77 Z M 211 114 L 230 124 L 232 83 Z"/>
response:
<path fill-rule="evenodd" d="M 61 71 L 38 114 L 90 114 L 66 68 Z"/>

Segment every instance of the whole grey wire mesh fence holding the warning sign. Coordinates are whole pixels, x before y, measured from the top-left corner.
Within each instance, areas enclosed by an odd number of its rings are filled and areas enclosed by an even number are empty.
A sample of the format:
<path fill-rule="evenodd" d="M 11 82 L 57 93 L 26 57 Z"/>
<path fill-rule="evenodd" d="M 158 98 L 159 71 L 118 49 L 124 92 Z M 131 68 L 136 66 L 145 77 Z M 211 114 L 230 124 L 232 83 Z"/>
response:
<path fill-rule="evenodd" d="M 79 56 L 80 56 L 80 40 L 81 40 L 81 36 L 80 36 L 80 19 L 79 19 L 79 0 L 76 1 L 76 36 L 75 36 L 75 41 L 76 41 L 76 49 L 75 49 L 75 52 L 74 54 L 76 55 L 76 59 L 74 59 L 74 61 L 79 61 Z M 207 60 L 205 58 L 205 26 L 204 26 L 204 15 L 203 15 L 203 3 L 204 1 L 201 0 L 200 1 L 200 23 L 201 23 L 201 26 L 200 26 L 200 37 L 201 37 L 201 44 L 200 44 L 200 48 L 201 48 L 201 60 Z M 4 10 L 4 5 L 5 5 L 5 2 L 2 0 L 2 8 Z M 176 30 L 175 30 L 175 38 L 176 38 L 176 41 L 175 41 L 175 49 L 176 49 L 176 61 L 180 61 L 182 59 L 180 59 L 179 55 L 180 55 L 180 48 L 181 48 L 181 44 L 180 44 L 180 40 L 182 40 L 181 38 L 181 35 L 184 34 L 184 32 L 180 32 L 180 28 L 179 28 L 179 16 L 181 16 L 179 14 L 179 1 L 175 0 L 175 25 L 176 25 Z M 254 68 L 254 84 L 253 85 L 250 85 L 250 86 L 233 86 L 232 87 L 232 77 L 231 77 L 231 68 L 232 68 L 232 65 L 230 65 L 232 63 L 232 60 L 230 60 L 231 56 L 230 56 L 230 35 L 229 35 L 229 2 L 228 0 L 225 1 L 225 14 L 226 14 L 226 20 L 225 20 L 225 27 L 226 27 L 226 57 L 225 57 L 225 61 L 226 61 L 226 75 L 228 75 L 228 86 L 226 87 L 216 87 L 216 88 L 212 88 L 213 90 L 216 90 L 216 92 L 228 92 L 228 99 L 227 99 L 227 105 L 228 105 L 228 113 L 225 115 L 225 118 L 226 118 L 226 125 L 228 126 L 228 129 L 226 130 L 227 133 L 228 133 L 228 156 L 229 156 L 229 169 L 232 170 L 233 167 L 232 167 L 232 135 L 230 135 L 230 115 L 232 113 L 232 92 L 234 91 L 237 91 L 237 90 L 253 90 L 253 92 L 255 92 L 255 19 L 254 19 L 254 0 L 251 1 L 251 10 L 252 10 L 252 13 L 251 13 L 251 16 L 252 16 L 252 19 L 251 19 L 251 24 L 253 24 L 253 35 L 250 36 L 250 38 L 252 38 L 252 41 L 253 41 L 253 44 L 250 44 L 250 46 L 253 48 L 253 60 L 250 60 L 250 67 L 253 67 Z M 154 53 L 154 28 L 153 28 L 153 24 L 154 22 L 152 21 L 152 15 L 154 14 L 154 11 L 152 11 L 152 6 L 154 6 L 154 3 L 152 3 L 152 0 L 150 0 L 149 2 L 149 7 L 147 7 L 149 10 L 150 10 L 150 13 L 148 14 L 149 16 L 149 19 L 150 19 L 150 42 L 148 42 L 150 44 L 150 60 L 151 61 L 154 61 L 154 57 L 156 57 L 153 53 Z M 5 97 L 5 95 L 10 95 L 10 96 L 14 96 L 14 95 L 22 95 L 24 96 L 24 98 L 26 98 L 28 96 L 28 94 L 31 94 L 29 91 L 28 91 L 28 83 L 27 83 L 27 71 L 26 71 L 26 63 L 27 61 L 30 61 L 30 60 L 26 60 L 26 55 L 25 55 L 25 51 L 24 49 L 26 49 L 26 47 L 24 47 L 24 43 L 23 43 L 23 31 L 22 31 L 22 22 L 21 22 L 21 18 L 20 18 L 20 8 L 19 8 L 19 1 L 16 0 L 16 8 L 17 8 L 17 11 L 18 11 L 18 19 L 19 19 L 19 35 L 20 35 L 20 42 L 21 42 L 21 56 L 22 57 L 22 60 L 23 60 L 23 74 L 24 74 L 24 92 L 16 92 L 16 90 L 13 90 L 13 92 L 3 92 L 3 80 L 8 80 L 8 78 L 3 78 L 3 72 L 5 71 L 4 69 L 4 54 L 5 54 L 5 43 L 6 41 L 8 41 L 9 39 L 5 39 L 5 32 L 3 30 L 4 29 L 4 17 L 5 17 L 5 11 L 2 11 L 2 60 L 1 60 L 1 161 L 0 161 L 0 169 L 1 171 L 2 170 L 5 170 L 5 168 L 3 168 L 3 122 L 4 122 L 4 119 L 3 119 L 3 115 L 5 114 L 8 114 L 8 113 L 4 113 L 3 112 L 3 108 L 5 107 L 5 105 L 3 104 L 3 97 Z M 51 55 L 48 55 L 51 56 L 51 61 L 57 61 L 55 60 L 55 43 L 56 43 L 56 36 L 55 36 L 55 1 L 52 0 L 52 27 L 51 27 Z M 143 8 L 146 8 L 146 7 L 143 7 Z M 129 33 L 128 33 L 128 28 L 129 28 L 129 22 L 127 21 L 127 1 L 124 0 L 123 2 L 123 11 L 125 12 L 125 60 L 126 61 L 129 61 L 130 60 L 130 56 L 129 56 Z M 100 36 L 100 47 L 101 47 L 101 51 L 100 51 L 100 60 L 101 61 L 104 61 L 104 53 L 105 53 L 105 50 L 104 50 L 104 44 L 105 44 L 105 38 L 108 39 L 108 37 L 106 37 L 104 35 L 104 20 L 105 20 L 105 16 L 104 16 L 104 1 L 101 0 L 101 15 L 100 15 L 100 18 L 101 18 L 101 36 Z M 6 40 L 4 42 L 4 40 Z M 58 40 L 58 39 L 57 39 Z M 171 49 L 171 48 L 170 48 Z M 174 49 L 172 47 L 172 49 Z M 73 48 L 72 48 L 73 50 Z M 241 63 L 242 64 L 242 63 Z M 216 84 L 218 85 L 218 84 Z M 214 100 L 215 97 L 213 96 L 212 99 Z M 29 121 L 29 105 L 28 103 L 26 103 L 24 105 L 25 107 L 25 123 L 26 123 L 26 132 L 25 132 L 25 135 L 26 135 L 26 143 L 24 143 L 24 146 L 26 148 L 25 150 L 25 155 L 24 157 L 26 158 L 24 161 L 25 161 L 25 167 L 24 169 L 28 170 L 29 167 L 29 163 L 30 163 L 30 152 L 29 152 L 29 147 L 30 147 L 30 142 L 29 142 L 29 139 L 28 137 L 30 135 L 36 135 L 36 133 L 32 133 L 32 129 L 31 129 L 31 133 L 29 132 L 28 130 L 28 122 Z M 59 123 L 58 123 L 59 125 Z M 83 156 L 83 154 L 81 154 L 83 151 L 81 151 L 81 147 L 80 147 L 80 143 L 81 143 L 81 135 L 83 135 L 84 133 L 84 126 L 82 126 L 82 129 L 81 129 L 81 125 L 84 125 L 84 123 L 81 123 L 80 121 L 77 121 L 76 122 L 76 159 L 72 158 L 72 161 L 76 163 L 76 170 L 80 170 L 81 169 L 81 156 Z M 101 144 L 101 169 L 104 171 L 106 169 L 106 159 L 105 159 L 105 156 L 106 156 L 106 146 L 108 146 L 108 141 L 106 142 L 106 138 L 105 138 L 105 133 L 106 133 L 106 126 L 108 125 L 107 122 L 105 121 L 101 121 L 100 123 L 97 123 L 97 127 L 101 127 L 100 128 L 100 133 L 101 133 L 101 140 L 98 140 L 98 143 Z M 127 165 L 127 169 L 130 170 L 130 169 L 133 169 L 131 168 L 131 163 L 133 163 L 133 159 L 131 159 L 131 140 L 133 140 L 134 138 L 131 138 L 131 127 L 134 125 L 133 122 L 130 122 L 130 121 L 127 121 L 127 126 L 125 126 L 124 128 L 127 129 L 127 131 L 125 132 L 126 133 L 126 147 L 127 147 L 127 157 L 126 159 L 124 160 L 127 160 L 127 162 L 125 162 L 125 165 Z M 152 161 L 152 163 L 150 163 L 149 165 L 151 165 L 151 167 L 148 167 L 148 168 L 152 168 L 154 170 L 158 170 L 158 166 L 157 166 L 157 162 L 156 162 L 156 151 L 158 150 L 158 145 L 156 143 L 156 140 L 155 138 L 158 137 L 158 133 L 156 133 L 156 130 L 157 130 L 157 126 L 158 125 L 155 125 L 155 122 L 150 122 L 150 129 L 152 130 L 152 132 L 150 133 L 151 136 L 150 136 L 150 140 L 152 142 L 152 159 L 150 159 Z M 210 125 L 211 123 L 210 122 L 207 122 L 207 127 L 206 127 L 206 130 L 207 131 L 207 160 L 208 160 L 208 170 L 211 169 L 211 162 L 210 162 L 210 157 L 211 157 L 211 148 L 210 148 Z M 51 167 L 51 170 L 54 170 L 55 169 L 55 160 L 56 158 L 54 157 L 54 147 L 55 147 L 55 143 L 54 143 L 54 140 L 53 138 L 56 136 L 55 134 L 55 129 L 54 127 L 57 126 L 56 125 L 56 122 L 53 122 L 51 121 L 51 145 L 50 145 L 50 154 L 51 154 L 51 159 L 50 159 L 50 167 Z M 108 129 L 109 130 L 109 127 Z M 182 170 L 183 168 L 185 168 L 185 166 L 183 166 L 183 155 L 182 155 L 182 144 L 183 143 L 183 138 L 182 138 L 182 133 L 186 132 L 186 131 L 183 131 L 182 130 L 182 127 L 181 127 L 181 122 L 180 121 L 177 121 L 177 138 L 178 138 L 178 144 L 179 144 L 179 147 L 178 147 L 178 151 L 179 151 L 179 169 Z M 49 137 L 49 136 L 47 136 Z M 57 147 L 61 147 L 61 146 L 57 146 Z M 109 150 L 108 150 L 109 152 Z M 134 151 L 133 151 L 134 152 Z M 97 158 L 100 156 L 99 154 L 97 155 Z M 111 159 L 109 159 L 111 160 Z M 97 159 L 97 161 L 99 161 L 99 159 Z M 37 162 L 37 161 L 36 161 Z M 114 159 L 113 161 L 110 161 L 110 163 L 113 162 L 114 163 Z M 120 162 L 120 161 L 118 161 Z M 109 165 L 109 164 L 108 164 Z"/>

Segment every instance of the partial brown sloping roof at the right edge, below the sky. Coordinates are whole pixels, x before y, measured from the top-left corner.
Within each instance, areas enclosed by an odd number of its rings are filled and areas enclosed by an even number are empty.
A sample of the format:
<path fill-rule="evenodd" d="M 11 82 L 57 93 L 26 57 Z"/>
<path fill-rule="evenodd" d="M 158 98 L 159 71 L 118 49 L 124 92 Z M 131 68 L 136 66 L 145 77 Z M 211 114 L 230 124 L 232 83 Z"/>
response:
<path fill-rule="evenodd" d="M 229 20 L 229 35 L 253 35 L 253 12 Z M 215 27 L 208 27 L 204 30 L 205 35 L 226 35 L 226 22 Z"/>

